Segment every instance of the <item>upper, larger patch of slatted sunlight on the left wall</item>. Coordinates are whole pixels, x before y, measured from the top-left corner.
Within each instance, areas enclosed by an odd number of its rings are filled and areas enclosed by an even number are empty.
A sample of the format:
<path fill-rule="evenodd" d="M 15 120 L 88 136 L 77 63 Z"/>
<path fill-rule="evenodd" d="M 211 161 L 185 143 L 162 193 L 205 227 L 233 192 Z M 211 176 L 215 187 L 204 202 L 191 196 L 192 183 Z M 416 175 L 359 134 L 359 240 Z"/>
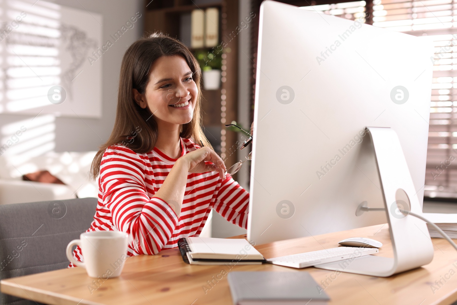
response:
<path fill-rule="evenodd" d="M 27 14 L 2 45 L 6 71 L 2 88 L 6 110 L 11 112 L 48 105 L 49 86 L 60 84 L 60 6 L 44 1 L 32 4 L 9 0 L 3 5 L 6 20 Z"/>

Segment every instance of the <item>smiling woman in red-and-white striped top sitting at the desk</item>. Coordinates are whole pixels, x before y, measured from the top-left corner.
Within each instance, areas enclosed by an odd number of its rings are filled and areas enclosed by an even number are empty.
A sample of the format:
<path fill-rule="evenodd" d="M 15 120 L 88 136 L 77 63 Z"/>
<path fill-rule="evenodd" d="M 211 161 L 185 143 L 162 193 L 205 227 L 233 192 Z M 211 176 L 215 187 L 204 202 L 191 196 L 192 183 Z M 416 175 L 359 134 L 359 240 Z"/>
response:
<path fill-rule="evenodd" d="M 246 228 L 249 193 L 202 132 L 200 83 L 191 51 L 162 33 L 124 54 L 114 128 L 92 163 L 99 195 L 87 231 L 127 232 L 129 256 L 198 236 L 212 208 Z M 73 254 L 83 262 L 79 247 Z"/>

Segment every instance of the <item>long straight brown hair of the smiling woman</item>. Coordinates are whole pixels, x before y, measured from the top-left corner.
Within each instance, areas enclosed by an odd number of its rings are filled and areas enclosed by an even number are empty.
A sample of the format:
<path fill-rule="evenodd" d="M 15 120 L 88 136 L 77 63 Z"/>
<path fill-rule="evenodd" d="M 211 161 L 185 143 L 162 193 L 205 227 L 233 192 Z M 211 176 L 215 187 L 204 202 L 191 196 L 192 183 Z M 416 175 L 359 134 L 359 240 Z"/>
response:
<path fill-rule="evenodd" d="M 198 89 L 193 118 L 191 122 L 182 125 L 180 136 L 192 139 L 197 144 L 201 140 L 205 146 L 213 149 L 202 130 L 200 65 L 186 45 L 161 32 L 155 32 L 134 42 L 122 58 L 116 119 L 109 139 L 100 146 L 92 161 L 90 171 L 94 179 L 100 173 L 101 158 L 106 148 L 111 145 L 122 143 L 139 154 L 153 150 L 158 136 L 157 123 L 149 107 L 143 109 L 134 101 L 132 90 L 137 89 L 139 93 L 144 94 L 149 82 L 151 65 L 162 56 L 172 55 L 181 55 L 186 60 Z"/>

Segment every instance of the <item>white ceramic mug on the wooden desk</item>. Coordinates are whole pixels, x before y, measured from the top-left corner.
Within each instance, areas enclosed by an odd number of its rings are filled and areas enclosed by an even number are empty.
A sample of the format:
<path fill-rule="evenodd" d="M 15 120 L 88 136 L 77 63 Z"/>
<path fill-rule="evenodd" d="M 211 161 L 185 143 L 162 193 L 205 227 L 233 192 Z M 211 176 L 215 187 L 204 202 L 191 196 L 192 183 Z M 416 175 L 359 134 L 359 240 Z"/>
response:
<path fill-rule="evenodd" d="M 128 234 L 121 231 L 92 231 L 70 241 L 67 258 L 78 267 L 85 268 L 91 278 L 116 278 L 122 273 L 127 259 Z M 81 248 L 84 262 L 73 257 L 73 246 Z"/>

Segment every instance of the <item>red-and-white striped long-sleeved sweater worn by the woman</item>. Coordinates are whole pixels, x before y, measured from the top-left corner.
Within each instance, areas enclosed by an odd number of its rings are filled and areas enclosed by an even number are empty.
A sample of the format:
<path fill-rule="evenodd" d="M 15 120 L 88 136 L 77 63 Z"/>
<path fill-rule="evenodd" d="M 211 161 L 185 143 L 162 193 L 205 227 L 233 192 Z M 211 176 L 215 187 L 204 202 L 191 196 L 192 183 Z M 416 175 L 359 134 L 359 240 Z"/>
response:
<path fill-rule="evenodd" d="M 200 146 L 181 138 L 181 148 L 183 156 Z M 127 232 L 127 254 L 134 256 L 157 254 L 176 247 L 181 237 L 200 235 L 212 208 L 246 228 L 249 193 L 230 175 L 222 179 L 218 171 L 189 173 L 179 218 L 167 202 L 154 197 L 176 160 L 157 148 L 137 154 L 122 145 L 108 147 L 101 159 L 96 213 L 86 232 Z M 73 256 L 83 262 L 79 246 Z"/>

